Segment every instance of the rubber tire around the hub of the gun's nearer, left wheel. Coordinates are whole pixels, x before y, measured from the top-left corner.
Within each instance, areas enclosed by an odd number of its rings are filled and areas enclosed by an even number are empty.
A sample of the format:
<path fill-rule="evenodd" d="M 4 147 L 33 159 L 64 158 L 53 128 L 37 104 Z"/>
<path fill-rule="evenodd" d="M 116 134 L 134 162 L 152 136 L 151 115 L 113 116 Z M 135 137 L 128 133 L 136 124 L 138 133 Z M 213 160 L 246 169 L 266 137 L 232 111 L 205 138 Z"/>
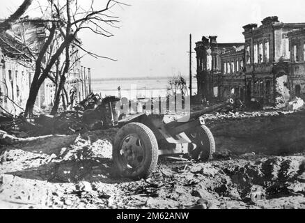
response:
<path fill-rule="evenodd" d="M 136 134 L 141 141 L 143 141 L 144 147 L 144 160 L 140 167 L 136 169 L 128 168 L 125 164 L 120 161 L 120 145 L 129 134 Z M 120 176 L 132 179 L 148 178 L 157 166 L 158 161 L 158 143 L 150 128 L 142 123 L 127 123 L 116 133 L 114 138 L 114 146 L 112 151 L 112 158 L 114 165 L 118 170 Z"/>

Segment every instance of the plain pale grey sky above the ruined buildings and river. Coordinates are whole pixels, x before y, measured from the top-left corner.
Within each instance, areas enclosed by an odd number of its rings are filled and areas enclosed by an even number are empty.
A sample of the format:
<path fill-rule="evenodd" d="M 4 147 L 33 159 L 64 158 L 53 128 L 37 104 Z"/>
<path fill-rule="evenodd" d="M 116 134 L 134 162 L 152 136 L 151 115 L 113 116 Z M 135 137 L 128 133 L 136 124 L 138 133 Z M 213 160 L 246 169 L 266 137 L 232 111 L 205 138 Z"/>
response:
<path fill-rule="evenodd" d="M 0 0 L 0 17 L 7 17 L 22 0 Z M 95 0 L 95 7 L 104 6 Z M 121 0 L 131 6 L 111 11 L 120 17 L 114 37 L 81 33 L 86 49 L 118 61 L 86 57 L 93 77 L 188 75 L 189 33 L 194 43 L 216 35 L 219 42 L 243 42 L 242 26 L 277 15 L 281 22 L 305 22 L 304 0 Z M 88 3 L 88 0 L 79 0 Z M 194 56 L 193 56 L 194 57 Z M 194 60 L 193 72 L 196 72 Z"/>

